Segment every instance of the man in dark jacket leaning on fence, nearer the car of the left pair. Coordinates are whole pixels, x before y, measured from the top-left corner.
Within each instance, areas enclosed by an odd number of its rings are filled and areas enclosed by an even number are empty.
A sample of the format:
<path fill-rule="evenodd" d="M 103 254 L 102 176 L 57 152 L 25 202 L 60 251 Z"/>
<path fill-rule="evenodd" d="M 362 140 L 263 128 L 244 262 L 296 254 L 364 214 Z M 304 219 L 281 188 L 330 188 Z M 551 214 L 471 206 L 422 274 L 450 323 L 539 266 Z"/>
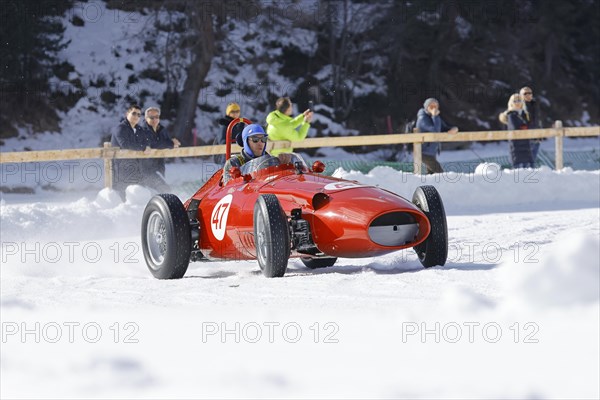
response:
<path fill-rule="evenodd" d="M 181 146 L 179 140 L 171 138 L 164 126 L 160 124 L 160 108 L 148 107 L 144 113 L 148 146 L 152 149 L 173 149 Z M 142 168 L 142 184 L 160 193 L 170 191 L 165 182 L 165 159 L 147 158 L 140 160 Z"/>

